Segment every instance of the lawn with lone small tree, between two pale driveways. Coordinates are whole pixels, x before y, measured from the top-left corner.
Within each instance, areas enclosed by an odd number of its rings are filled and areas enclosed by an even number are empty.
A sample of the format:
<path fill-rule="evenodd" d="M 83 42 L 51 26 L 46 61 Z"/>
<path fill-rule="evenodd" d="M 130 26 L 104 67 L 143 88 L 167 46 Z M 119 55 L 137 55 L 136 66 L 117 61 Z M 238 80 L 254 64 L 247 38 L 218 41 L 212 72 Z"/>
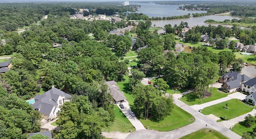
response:
<path fill-rule="evenodd" d="M 226 104 L 228 103 L 228 109 L 225 109 Z M 225 116 L 228 119 L 241 116 L 248 112 L 251 112 L 255 107 L 244 104 L 238 99 L 228 100 L 213 106 L 206 107 L 202 110 L 202 114 L 209 115 L 213 114 L 214 116 L 221 117 Z"/>

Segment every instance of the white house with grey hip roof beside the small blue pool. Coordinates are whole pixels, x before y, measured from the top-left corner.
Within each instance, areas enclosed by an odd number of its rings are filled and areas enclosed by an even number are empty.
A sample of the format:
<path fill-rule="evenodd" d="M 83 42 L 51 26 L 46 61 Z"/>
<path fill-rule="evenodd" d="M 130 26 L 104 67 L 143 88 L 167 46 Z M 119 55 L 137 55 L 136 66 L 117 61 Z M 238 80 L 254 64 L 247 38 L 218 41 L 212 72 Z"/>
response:
<path fill-rule="evenodd" d="M 35 103 L 31 104 L 33 110 L 37 110 L 44 119 L 54 119 L 57 117 L 57 112 L 60 111 L 60 106 L 64 102 L 69 101 L 71 96 L 61 90 L 58 90 L 54 86 L 42 95 L 36 95 L 34 97 Z"/>

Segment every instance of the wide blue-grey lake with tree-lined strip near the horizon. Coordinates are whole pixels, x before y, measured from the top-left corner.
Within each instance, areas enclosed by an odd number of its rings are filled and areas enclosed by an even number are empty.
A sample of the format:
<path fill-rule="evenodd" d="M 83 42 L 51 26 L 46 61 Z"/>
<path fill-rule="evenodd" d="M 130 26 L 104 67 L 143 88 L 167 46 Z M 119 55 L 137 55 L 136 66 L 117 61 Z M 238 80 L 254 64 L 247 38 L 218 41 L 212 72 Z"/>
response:
<path fill-rule="evenodd" d="M 183 10 L 177 10 L 179 5 L 160 5 L 160 4 L 154 4 L 154 3 L 131 3 L 131 4 L 137 4 L 141 5 L 142 7 L 139 8 L 139 12 L 137 13 L 143 13 L 146 14 L 149 17 L 163 17 L 163 16 L 182 16 L 186 14 L 192 14 L 192 13 L 204 13 L 206 11 L 183 11 Z M 205 20 L 212 19 L 216 21 L 224 21 L 225 19 L 242 19 L 240 17 L 236 16 L 220 16 L 220 15 L 211 15 L 211 16 L 201 16 L 201 17 L 191 17 L 191 18 L 185 18 L 185 19 L 174 19 L 174 20 L 151 20 L 152 25 L 156 24 L 156 27 L 164 27 L 166 24 L 171 24 L 174 26 L 175 24 L 180 25 L 180 22 L 187 22 L 189 27 L 194 26 L 208 26 L 209 23 L 204 23 Z M 214 26 L 218 26 L 218 24 L 211 24 Z M 232 27 L 231 25 L 223 25 L 226 27 Z M 241 27 L 242 28 L 242 27 Z"/>

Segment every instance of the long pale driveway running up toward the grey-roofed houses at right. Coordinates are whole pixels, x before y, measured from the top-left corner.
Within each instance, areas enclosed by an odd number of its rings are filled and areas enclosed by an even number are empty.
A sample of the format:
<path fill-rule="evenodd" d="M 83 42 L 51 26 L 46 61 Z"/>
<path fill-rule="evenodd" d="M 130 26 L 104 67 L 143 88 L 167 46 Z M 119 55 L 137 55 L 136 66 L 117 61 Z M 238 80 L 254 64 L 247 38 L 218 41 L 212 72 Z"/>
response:
<path fill-rule="evenodd" d="M 195 110 L 199 111 L 199 110 L 202 110 L 203 108 L 206 108 L 206 107 L 209 107 L 209 106 L 221 103 L 221 102 L 225 102 L 225 101 L 228 101 L 228 100 L 231 100 L 231 99 L 234 99 L 234 98 L 244 100 L 245 97 L 246 97 L 245 94 L 242 94 L 240 92 L 236 92 L 236 93 L 230 94 L 230 95 L 228 95 L 224 98 L 220 98 L 218 100 L 213 100 L 211 102 L 206 102 L 206 103 L 200 104 L 200 105 L 196 104 L 196 105 L 193 105 L 191 107 L 194 108 Z"/>

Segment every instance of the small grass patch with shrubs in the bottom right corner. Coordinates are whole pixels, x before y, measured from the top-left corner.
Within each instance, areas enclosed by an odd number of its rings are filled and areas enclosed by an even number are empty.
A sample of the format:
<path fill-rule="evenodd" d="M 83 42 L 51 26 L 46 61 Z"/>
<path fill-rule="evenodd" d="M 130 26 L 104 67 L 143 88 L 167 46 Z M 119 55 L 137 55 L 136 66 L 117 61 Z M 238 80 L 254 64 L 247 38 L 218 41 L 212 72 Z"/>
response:
<path fill-rule="evenodd" d="M 236 123 L 234 127 L 232 127 L 232 131 L 242 136 L 244 132 L 252 132 L 254 127 L 256 127 L 256 123 L 254 123 L 254 125 L 251 127 L 246 127 L 245 122 L 240 121 L 239 123 Z"/>

